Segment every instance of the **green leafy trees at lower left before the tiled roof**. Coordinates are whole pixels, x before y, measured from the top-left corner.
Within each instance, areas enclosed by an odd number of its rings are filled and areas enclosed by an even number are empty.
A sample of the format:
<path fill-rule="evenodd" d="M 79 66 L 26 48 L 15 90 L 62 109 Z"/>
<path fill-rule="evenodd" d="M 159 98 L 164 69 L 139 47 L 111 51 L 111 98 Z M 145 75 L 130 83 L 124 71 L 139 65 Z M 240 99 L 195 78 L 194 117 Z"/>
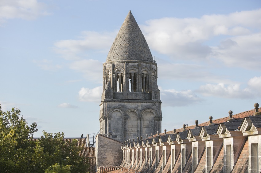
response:
<path fill-rule="evenodd" d="M 29 126 L 20 113 L 14 108 L 3 112 L 0 104 L 0 172 L 43 173 L 66 167 L 67 172 L 86 172 L 88 165 L 76 140 L 65 141 L 63 132 L 46 131 L 35 139 L 37 124 Z"/>

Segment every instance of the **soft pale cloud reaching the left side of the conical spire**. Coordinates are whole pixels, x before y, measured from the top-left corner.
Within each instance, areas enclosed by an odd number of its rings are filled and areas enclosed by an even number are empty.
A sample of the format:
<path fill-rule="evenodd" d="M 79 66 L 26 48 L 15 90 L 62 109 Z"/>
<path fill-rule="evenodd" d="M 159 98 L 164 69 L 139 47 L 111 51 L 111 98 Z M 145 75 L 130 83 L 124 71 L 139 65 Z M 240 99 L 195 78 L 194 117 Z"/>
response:
<path fill-rule="evenodd" d="M 83 31 L 79 39 L 55 42 L 54 50 L 67 60 L 79 60 L 86 56 L 89 50 L 108 52 L 116 34 L 116 32 Z"/>

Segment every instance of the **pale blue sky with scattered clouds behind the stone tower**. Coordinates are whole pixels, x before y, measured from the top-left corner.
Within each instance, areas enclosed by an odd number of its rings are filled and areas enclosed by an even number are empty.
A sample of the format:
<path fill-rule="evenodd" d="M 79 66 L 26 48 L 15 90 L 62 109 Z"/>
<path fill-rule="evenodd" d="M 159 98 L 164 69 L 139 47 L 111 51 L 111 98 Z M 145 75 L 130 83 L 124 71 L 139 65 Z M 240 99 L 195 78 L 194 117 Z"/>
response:
<path fill-rule="evenodd" d="M 42 131 L 99 130 L 102 64 L 131 10 L 158 64 L 162 129 L 261 103 L 260 1 L 0 1 L 0 103 Z"/>

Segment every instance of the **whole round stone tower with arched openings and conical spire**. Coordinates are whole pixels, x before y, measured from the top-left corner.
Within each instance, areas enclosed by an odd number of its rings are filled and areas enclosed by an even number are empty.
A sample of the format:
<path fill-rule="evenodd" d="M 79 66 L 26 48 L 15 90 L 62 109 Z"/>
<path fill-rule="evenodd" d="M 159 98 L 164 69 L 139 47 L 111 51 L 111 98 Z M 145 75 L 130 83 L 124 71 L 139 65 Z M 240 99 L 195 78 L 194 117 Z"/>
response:
<path fill-rule="evenodd" d="M 103 64 L 100 133 L 118 141 L 161 132 L 157 64 L 131 12 Z"/>

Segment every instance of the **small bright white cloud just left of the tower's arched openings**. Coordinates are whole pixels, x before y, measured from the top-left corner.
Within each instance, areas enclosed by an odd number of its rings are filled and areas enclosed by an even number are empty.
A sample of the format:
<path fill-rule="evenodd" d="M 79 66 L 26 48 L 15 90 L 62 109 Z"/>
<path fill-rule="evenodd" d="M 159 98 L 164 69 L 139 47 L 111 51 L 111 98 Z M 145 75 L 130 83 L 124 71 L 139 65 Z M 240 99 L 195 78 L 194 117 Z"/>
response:
<path fill-rule="evenodd" d="M 79 93 L 80 101 L 97 102 L 101 101 L 103 87 L 95 87 L 93 89 L 81 88 Z"/>

